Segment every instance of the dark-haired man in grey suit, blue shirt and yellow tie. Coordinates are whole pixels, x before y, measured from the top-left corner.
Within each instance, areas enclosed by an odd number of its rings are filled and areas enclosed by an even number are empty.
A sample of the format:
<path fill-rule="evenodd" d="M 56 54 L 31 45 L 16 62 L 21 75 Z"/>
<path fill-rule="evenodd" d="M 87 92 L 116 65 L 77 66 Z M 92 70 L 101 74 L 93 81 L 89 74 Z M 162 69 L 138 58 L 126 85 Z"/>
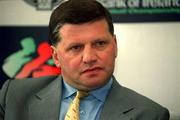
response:
<path fill-rule="evenodd" d="M 116 36 L 110 13 L 100 3 L 63 2 L 51 15 L 49 36 L 62 76 L 7 81 L 0 93 L 0 120 L 67 120 L 77 91 L 87 92 L 80 120 L 169 119 L 166 108 L 113 77 Z"/>

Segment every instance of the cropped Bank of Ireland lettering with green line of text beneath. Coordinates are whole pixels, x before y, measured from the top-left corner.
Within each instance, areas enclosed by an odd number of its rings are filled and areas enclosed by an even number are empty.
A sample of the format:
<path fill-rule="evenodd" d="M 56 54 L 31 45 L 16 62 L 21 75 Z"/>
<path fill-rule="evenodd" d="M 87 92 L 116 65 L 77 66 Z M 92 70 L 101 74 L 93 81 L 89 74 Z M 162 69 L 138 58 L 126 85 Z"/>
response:
<path fill-rule="evenodd" d="M 112 14 L 177 14 L 180 0 L 97 0 Z"/>

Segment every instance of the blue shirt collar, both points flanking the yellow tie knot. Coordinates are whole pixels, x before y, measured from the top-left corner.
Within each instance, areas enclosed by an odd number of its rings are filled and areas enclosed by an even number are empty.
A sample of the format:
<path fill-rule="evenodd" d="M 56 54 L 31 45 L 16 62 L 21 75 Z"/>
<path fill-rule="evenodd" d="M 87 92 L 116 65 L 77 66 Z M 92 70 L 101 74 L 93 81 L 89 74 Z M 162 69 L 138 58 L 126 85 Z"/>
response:
<path fill-rule="evenodd" d="M 112 83 L 113 83 L 113 79 L 110 78 L 109 82 L 105 86 L 91 91 L 90 95 L 94 96 L 96 99 L 100 100 L 101 102 L 104 102 L 112 86 Z M 63 80 L 63 99 L 73 96 L 76 93 L 76 91 L 77 91 L 76 88 L 73 88 Z"/>

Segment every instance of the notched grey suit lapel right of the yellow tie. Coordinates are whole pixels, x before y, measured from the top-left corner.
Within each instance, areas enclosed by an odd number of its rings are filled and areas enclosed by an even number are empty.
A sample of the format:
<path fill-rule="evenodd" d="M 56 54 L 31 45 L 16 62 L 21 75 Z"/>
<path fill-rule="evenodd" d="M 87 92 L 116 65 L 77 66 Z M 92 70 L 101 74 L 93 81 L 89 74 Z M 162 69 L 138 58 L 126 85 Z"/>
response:
<path fill-rule="evenodd" d="M 104 103 L 100 120 L 131 119 L 126 113 L 133 110 L 133 105 L 126 98 L 125 92 L 121 88 L 114 78 L 112 88 Z"/>

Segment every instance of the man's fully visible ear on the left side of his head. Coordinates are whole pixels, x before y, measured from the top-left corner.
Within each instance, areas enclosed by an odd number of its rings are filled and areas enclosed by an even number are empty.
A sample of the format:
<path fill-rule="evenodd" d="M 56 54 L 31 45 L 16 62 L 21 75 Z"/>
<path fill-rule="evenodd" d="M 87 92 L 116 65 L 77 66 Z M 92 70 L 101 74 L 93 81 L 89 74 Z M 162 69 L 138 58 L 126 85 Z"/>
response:
<path fill-rule="evenodd" d="M 52 58 L 54 60 L 54 63 L 56 65 L 56 67 L 60 67 L 60 63 L 59 63 L 59 57 L 58 57 L 58 52 L 55 46 L 51 46 L 51 52 L 52 52 Z"/>

